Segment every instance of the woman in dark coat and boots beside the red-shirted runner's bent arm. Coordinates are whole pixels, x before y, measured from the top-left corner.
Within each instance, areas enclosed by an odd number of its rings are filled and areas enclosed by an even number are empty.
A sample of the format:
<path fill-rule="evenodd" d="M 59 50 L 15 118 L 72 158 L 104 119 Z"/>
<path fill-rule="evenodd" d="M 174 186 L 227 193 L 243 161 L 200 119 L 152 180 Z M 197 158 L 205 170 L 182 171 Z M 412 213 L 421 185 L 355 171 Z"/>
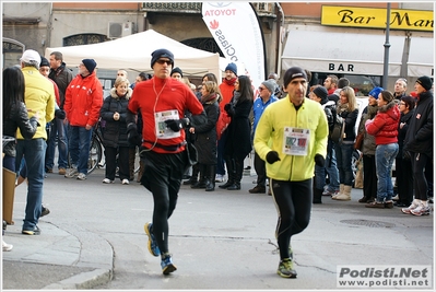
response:
<path fill-rule="evenodd" d="M 220 116 L 217 103 L 217 84 L 207 81 L 201 89 L 201 104 L 203 105 L 208 120 L 205 124 L 189 128 L 190 133 L 196 133 L 195 145 L 198 150 L 198 164 L 200 180 L 191 188 L 205 188 L 207 191 L 215 189 L 216 174 L 216 121 Z"/>

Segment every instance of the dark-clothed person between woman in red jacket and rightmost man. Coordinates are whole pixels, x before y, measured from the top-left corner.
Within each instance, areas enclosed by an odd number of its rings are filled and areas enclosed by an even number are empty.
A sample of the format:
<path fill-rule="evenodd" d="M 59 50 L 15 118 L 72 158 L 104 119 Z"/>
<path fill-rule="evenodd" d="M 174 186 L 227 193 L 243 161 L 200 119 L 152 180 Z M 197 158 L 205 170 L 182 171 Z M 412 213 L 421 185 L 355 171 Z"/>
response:
<path fill-rule="evenodd" d="M 405 133 L 411 118 L 415 112 L 415 98 L 404 96 L 400 100 L 400 122 L 398 124 L 398 154 L 396 157 L 396 174 L 399 200 L 393 203 L 397 207 L 409 207 L 413 200 L 413 173 L 410 159 L 403 159 Z"/>

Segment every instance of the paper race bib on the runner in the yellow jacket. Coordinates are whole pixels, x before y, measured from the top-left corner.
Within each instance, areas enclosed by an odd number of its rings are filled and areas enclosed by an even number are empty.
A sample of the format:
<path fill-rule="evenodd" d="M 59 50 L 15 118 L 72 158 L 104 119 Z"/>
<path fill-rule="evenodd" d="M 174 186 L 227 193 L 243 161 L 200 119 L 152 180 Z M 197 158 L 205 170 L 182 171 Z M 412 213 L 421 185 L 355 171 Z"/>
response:
<path fill-rule="evenodd" d="M 285 127 L 283 136 L 283 153 L 286 155 L 307 155 L 309 141 L 309 129 Z"/>

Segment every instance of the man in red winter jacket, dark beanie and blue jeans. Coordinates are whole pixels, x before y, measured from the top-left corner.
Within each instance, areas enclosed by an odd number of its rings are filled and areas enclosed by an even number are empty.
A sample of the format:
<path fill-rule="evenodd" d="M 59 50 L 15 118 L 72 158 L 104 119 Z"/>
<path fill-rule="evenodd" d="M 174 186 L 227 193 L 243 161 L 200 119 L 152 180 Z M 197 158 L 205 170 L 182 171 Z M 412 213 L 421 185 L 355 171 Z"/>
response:
<path fill-rule="evenodd" d="M 99 118 L 103 105 L 103 89 L 94 59 L 83 59 L 79 65 L 79 74 L 71 81 L 66 92 L 63 109 L 70 122 L 68 150 L 71 168 L 66 177 L 86 179 L 91 137 Z"/>

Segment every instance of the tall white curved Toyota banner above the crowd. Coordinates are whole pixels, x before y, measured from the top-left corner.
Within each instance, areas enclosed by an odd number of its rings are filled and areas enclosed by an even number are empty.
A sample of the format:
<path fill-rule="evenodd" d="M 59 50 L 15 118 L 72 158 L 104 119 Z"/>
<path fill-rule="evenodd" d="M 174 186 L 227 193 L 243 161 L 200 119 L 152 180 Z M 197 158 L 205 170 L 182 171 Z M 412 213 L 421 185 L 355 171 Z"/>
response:
<path fill-rule="evenodd" d="M 259 20 L 249 2 L 202 2 L 203 21 L 228 62 L 241 62 L 255 93 L 266 80 L 264 42 Z"/>

